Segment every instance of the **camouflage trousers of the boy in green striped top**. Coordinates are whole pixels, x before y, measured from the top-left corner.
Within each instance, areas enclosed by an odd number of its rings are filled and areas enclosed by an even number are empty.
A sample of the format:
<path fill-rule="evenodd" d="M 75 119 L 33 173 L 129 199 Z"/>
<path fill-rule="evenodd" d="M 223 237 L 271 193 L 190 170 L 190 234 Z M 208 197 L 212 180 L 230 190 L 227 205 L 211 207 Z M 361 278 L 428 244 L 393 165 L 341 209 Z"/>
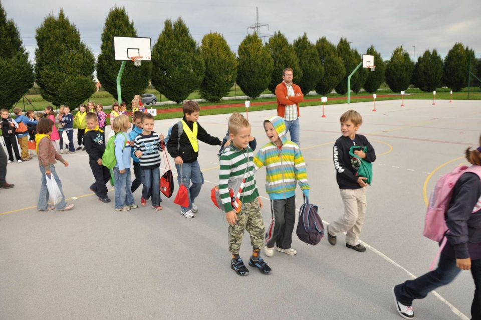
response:
<path fill-rule="evenodd" d="M 260 249 L 264 247 L 264 235 L 266 228 L 262 219 L 261 207 L 259 199 L 255 199 L 249 203 L 242 204 L 242 210 L 237 214 L 237 223 L 229 225 L 229 251 L 232 254 L 239 253 L 244 230 L 249 232 L 251 236 L 252 246 Z"/>

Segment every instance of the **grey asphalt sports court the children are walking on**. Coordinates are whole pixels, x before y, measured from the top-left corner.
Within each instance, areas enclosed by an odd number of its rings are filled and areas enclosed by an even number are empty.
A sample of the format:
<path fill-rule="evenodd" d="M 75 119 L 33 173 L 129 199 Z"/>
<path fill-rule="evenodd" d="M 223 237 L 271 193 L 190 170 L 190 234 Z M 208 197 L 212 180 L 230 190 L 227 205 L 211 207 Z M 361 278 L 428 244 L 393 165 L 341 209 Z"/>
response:
<path fill-rule="evenodd" d="M 93 176 L 85 151 L 64 155 L 68 168 L 56 166 L 74 210 L 39 212 L 37 159 L 9 164 L 7 181 L 15 188 L 0 190 L 0 319 L 400 319 L 391 287 L 429 271 L 437 248 L 422 236 L 430 190 L 439 175 L 465 164 L 464 149 L 477 146 L 481 131 L 479 101 L 400 104 L 376 102 L 375 112 L 372 102 L 328 105 L 325 118 L 322 106 L 301 108 L 310 200 L 326 222 L 343 213 L 332 161 L 339 117 L 351 108 L 363 116 L 358 133 L 377 154 L 361 234 L 368 250 L 346 248 L 342 235 L 333 247 L 326 238 L 308 246 L 294 234 L 298 254 L 264 256 L 273 269 L 268 275 L 250 268 L 240 277 L 229 267 L 227 223 L 210 200 L 218 146 L 199 144 L 205 184 L 194 219 L 180 215 L 173 197 L 162 196 L 160 212 L 150 206 L 116 212 L 113 202 L 101 203 L 89 190 Z M 259 146 L 267 142 L 262 122 L 274 114 L 249 112 Z M 201 112 L 199 123 L 222 137 L 228 116 Z M 165 134 L 175 122 L 155 121 L 154 130 Z M 256 180 L 268 226 L 264 169 Z M 113 190 L 109 196 L 114 199 Z M 140 197 L 139 189 L 137 204 Z M 299 208 L 299 189 L 296 201 Z M 247 262 L 250 254 L 246 233 L 240 256 Z M 469 318 L 473 291 L 470 272 L 462 271 L 415 301 L 415 316 Z"/>

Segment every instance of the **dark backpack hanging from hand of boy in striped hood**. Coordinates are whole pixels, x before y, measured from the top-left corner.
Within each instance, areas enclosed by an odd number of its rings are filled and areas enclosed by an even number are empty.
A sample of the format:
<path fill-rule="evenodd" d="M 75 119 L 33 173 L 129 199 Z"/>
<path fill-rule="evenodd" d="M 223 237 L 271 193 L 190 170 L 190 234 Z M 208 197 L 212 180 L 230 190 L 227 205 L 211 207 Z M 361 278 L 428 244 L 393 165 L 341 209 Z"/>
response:
<path fill-rule="evenodd" d="M 316 245 L 324 237 L 324 224 L 319 217 L 318 207 L 309 203 L 309 197 L 304 196 L 304 204 L 299 209 L 299 221 L 296 234 L 299 240 Z"/>

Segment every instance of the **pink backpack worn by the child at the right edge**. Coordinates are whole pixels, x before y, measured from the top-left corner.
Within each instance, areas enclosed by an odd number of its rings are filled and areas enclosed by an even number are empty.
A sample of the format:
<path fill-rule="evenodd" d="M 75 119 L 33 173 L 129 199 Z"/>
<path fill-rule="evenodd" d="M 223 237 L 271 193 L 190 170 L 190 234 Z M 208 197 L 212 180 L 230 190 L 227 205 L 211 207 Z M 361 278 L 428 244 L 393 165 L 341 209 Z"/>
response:
<path fill-rule="evenodd" d="M 451 201 L 452 190 L 461 175 L 467 172 L 472 172 L 476 174 L 479 179 L 481 179 L 481 166 L 473 165 L 471 167 L 456 167 L 450 173 L 439 178 L 429 199 L 426 217 L 424 218 L 424 231 L 422 234 L 426 238 L 436 242 L 440 242 L 442 240 L 439 250 L 437 251 L 434 260 L 431 263 L 430 270 L 434 268 L 434 264 L 436 263 L 437 258 L 439 257 L 439 254 L 441 254 L 441 251 L 447 241 L 445 233 L 448 231 L 448 228 L 446 225 L 445 214 L 449 206 L 449 202 Z M 473 208 L 472 212 L 474 213 L 479 209 L 481 209 L 481 204 L 478 202 Z"/>

